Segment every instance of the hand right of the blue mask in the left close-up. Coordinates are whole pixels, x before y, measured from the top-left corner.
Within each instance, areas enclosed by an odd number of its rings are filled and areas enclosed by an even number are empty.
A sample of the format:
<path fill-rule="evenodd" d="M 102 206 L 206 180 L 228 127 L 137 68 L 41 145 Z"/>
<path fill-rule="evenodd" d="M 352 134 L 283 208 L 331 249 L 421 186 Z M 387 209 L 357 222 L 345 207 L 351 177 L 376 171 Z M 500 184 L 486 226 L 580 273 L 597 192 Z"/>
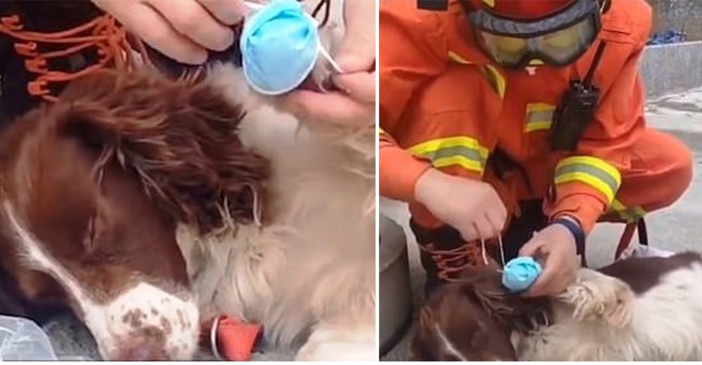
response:
<path fill-rule="evenodd" d="M 376 4 L 344 1 L 346 32 L 335 60 L 344 71 L 331 78 L 340 91 L 298 90 L 285 95 L 281 107 L 300 119 L 359 124 L 374 121 L 376 102 Z"/>

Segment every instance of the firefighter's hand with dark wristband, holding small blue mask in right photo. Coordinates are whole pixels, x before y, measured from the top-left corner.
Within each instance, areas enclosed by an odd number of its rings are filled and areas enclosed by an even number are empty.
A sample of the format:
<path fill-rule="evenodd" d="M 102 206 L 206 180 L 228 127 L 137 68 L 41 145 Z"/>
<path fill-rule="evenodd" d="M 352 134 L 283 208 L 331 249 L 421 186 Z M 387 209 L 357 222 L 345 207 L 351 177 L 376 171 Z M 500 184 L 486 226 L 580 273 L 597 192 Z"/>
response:
<path fill-rule="evenodd" d="M 574 283 L 580 266 L 575 237 L 560 224 L 549 225 L 534 234 L 519 255 L 543 261 L 543 272 L 524 296 L 556 296 L 562 293 Z"/>

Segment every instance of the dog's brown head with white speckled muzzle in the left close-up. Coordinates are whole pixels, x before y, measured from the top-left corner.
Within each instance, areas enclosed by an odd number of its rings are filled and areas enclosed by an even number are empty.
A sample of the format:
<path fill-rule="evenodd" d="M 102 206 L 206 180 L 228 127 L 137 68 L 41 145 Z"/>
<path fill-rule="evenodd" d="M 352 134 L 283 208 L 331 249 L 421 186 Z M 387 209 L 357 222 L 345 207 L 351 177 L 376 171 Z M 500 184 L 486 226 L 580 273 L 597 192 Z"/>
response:
<path fill-rule="evenodd" d="M 267 163 L 239 142 L 240 117 L 206 84 L 105 71 L 15 122 L 0 260 L 20 293 L 71 307 L 106 359 L 190 359 L 199 313 L 176 225 L 254 219 Z"/>

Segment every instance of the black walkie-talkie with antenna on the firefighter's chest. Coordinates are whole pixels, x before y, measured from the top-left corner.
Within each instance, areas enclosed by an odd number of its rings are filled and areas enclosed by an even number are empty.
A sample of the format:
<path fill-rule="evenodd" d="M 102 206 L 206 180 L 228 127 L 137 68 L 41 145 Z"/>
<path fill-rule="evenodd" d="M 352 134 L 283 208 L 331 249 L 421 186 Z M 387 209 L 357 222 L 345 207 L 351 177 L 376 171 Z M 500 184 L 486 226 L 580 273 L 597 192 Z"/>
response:
<path fill-rule="evenodd" d="M 552 150 L 575 151 L 585 128 L 595 117 L 595 110 L 600 102 L 600 89 L 592 85 L 592 79 L 595 77 L 595 69 L 600 64 L 606 45 L 601 41 L 585 79 L 572 81 L 569 90 L 562 96 L 553 114 Z"/>

